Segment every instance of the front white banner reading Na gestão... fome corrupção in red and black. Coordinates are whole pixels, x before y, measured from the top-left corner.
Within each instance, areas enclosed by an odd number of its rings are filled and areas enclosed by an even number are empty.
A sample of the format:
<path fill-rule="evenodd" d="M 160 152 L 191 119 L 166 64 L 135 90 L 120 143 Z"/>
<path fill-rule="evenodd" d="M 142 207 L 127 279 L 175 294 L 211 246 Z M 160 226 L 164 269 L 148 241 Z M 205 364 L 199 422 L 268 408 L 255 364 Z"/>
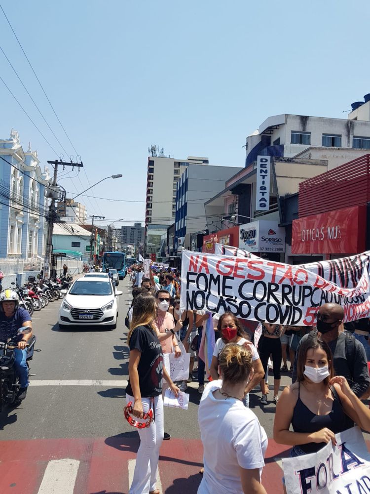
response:
<path fill-rule="evenodd" d="M 335 302 L 345 322 L 369 317 L 369 256 L 363 255 L 367 263 L 357 284 L 343 288 L 304 266 L 183 250 L 180 310 L 230 311 L 242 319 L 312 326 L 318 307 Z"/>

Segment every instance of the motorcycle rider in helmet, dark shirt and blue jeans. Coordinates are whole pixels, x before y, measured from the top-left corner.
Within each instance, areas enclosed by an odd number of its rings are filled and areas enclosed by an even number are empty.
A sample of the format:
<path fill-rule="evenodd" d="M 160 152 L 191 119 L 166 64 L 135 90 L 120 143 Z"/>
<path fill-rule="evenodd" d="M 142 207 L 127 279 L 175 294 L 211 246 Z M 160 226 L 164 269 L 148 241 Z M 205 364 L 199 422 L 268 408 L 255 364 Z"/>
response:
<path fill-rule="evenodd" d="M 18 335 L 21 326 L 31 326 L 31 316 L 26 309 L 19 307 L 19 298 L 14 290 L 6 289 L 0 292 L 0 341 L 6 343 L 8 338 L 16 342 L 14 350 L 14 366 L 19 377 L 20 389 L 18 400 L 26 398 L 28 387 L 28 368 L 26 363 L 27 343 L 32 338 L 32 332 Z"/>

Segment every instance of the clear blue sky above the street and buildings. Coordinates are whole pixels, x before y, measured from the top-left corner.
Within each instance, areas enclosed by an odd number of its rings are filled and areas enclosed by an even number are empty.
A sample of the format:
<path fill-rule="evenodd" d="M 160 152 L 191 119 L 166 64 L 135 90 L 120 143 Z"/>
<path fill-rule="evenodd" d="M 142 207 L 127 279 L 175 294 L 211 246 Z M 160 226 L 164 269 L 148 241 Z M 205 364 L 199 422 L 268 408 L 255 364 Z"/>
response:
<path fill-rule="evenodd" d="M 243 166 L 245 137 L 280 113 L 346 118 L 370 92 L 368 1 L 0 0 L 90 183 L 115 173 L 88 214 L 144 220 L 148 146 Z M 74 154 L 0 11 L 0 46 Z M 62 149 L 0 52 L 0 137 L 11 127 L 43 165 Z M 65 154 L 65 153 L 64 153 Z M 74 177 L 75 173 L 70 176 Z M 61 179 L 63 176 L 61 176 Z M 71 195 L 84 173 L 60 181 Z M 91 201 L 91 202 L 90 202 Z M 118 226 L 119 223 L 116 223 Z"/>

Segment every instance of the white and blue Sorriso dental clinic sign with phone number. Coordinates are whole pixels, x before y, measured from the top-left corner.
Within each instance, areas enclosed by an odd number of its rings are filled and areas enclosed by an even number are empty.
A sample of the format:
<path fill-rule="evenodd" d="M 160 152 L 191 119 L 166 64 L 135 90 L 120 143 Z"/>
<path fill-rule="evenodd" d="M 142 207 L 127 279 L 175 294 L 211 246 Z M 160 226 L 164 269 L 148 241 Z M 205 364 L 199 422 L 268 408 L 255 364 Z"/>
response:
<path fill-rule="evenodd" d="M 253 221 L 239 228 L 239 248 L 249 252 L 285 252 L 285 228 L 277 221 Z"/>

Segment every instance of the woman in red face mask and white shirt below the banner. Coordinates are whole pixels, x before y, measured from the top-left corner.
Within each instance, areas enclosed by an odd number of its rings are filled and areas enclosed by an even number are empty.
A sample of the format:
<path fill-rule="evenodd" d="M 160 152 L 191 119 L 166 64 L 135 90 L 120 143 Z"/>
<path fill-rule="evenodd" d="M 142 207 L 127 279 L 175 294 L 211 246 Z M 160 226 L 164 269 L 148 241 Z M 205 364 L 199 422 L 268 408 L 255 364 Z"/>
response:
<path fill-rule="evenodd" d="M 213 351 L 210 367 L 212 379 L 219 379 L 219 354 L 226 343 L 237 343 L 238 345 L 248 348 L 252 354 L 252 367 L 254 371 L 253 377 L 249 381 L 245 390 L 244 405 L 249 408 L 249 392 L 264 376 L 263 366 L 259 359 L 259 353 L 252 341 L 248 340 L 248 335 L 244 332 L 239 319 L 231 314 L 231 312 L 225 312 L 225 314 L 222 314 L 218 321 L 217 329 L 221 333 L 221 338 L 216 341 Z"/>

